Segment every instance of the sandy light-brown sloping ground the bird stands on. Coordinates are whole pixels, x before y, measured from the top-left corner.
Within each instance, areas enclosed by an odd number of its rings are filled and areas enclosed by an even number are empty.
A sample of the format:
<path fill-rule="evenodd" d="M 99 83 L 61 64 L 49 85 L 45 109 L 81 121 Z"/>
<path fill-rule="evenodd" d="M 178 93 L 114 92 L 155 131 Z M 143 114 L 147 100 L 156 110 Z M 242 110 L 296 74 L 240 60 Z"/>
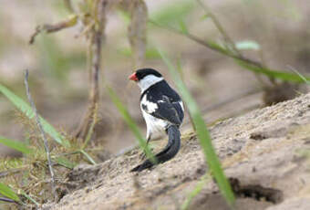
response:
<path fill-rule="evenodd" d="M 210 128 L 241 210 L 310 209 L 310 94 L 253 110 Z M 164 141 L 156 142 L 162 148 Z M 139 149 L 67 174 L 66 194 L 46 209 L 180 209 L 208 172 L 195 134 L 183 132 L 181 152 L 137 176 Z M 212 181 L 189 209 L 228 209 Z"/>

